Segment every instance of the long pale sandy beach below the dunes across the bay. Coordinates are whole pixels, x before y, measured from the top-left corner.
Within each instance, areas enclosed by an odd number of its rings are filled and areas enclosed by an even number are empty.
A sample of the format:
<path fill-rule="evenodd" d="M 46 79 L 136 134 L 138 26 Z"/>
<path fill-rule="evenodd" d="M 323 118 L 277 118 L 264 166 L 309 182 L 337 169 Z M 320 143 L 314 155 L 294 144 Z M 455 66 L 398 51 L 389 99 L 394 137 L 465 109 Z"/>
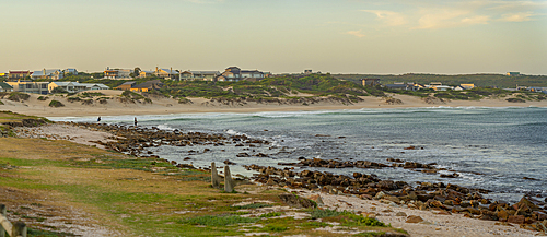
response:
<path fill-rule="evenodd" d="M 49 95 L 46 100 L 38 100 L 40 95 L 31 94 L 24 102 L 12 102 L 1 99 L 0 110 L 10 110 L 24 115 L 40 117 L 84 117 L 84 116 L 121 116 L 121 115 L 170 115 L 170 114 L 200 114 L 200 112 L 259 112 L 259 111 L 309 111 L 309 110 L 337 110 L 337 109 L 362 109 L 362 108 L 418 108 L 418 107 L 547 107 L 547 100 L 509 103 L 505 98 L 489 98 L 481 100 L 433 100 L 427 103 L 424 99 L 407 96 L 391 95 L 395 99 L 400 99 L 400 104 L 388 104 L 385 98 L 364 96 L 363 102 L 354 104 L 342 104 L 338 102 L 321 102 L 309 105 L 292 104 L 258 104 L 254 102 L 245 105 L 225 105 L 211 102 L 207 98 L 189 98 L 191 103 L 179 104 L 177 100 L 165 97 L 150 97 L 150 103 L 128 103 L 121 102 L 119 95 L 121 91 L 96 91 L 107 97 L 106 104 L 94 100 L 91 105 L 83 105 L 82 102 L 68 102 L 67 97 Z M 53 108 L 49 103 L 55 99 L 65 106 Z M 95 98 L 96 99 L 96 98 Z"/>

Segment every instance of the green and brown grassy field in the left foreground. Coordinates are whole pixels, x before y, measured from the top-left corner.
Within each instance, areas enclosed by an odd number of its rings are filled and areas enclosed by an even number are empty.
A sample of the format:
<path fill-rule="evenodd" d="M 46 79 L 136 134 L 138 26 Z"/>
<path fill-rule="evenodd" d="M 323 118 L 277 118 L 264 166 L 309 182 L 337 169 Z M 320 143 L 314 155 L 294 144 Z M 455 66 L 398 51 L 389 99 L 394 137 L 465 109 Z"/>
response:
<path fill-rule="evenodd" d="M 333 223 L 358 236 L 403 232 L 353 213 L 288 209 L 280 188 L 244 185 L 225 193 L 209 180 L 205 171 L 69 141 L 0 139 L 0 203 L 30 236 L 70 236 L 74 228 L 100 236 L 347 236 L 317 229 Z"/>

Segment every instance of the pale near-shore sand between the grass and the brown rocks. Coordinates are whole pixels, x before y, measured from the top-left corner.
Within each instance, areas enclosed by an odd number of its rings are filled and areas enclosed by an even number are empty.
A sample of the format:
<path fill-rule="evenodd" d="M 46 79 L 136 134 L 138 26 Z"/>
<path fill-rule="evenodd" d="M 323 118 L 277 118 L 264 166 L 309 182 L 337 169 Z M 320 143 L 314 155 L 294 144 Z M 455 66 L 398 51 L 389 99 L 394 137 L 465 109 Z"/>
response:
<path fill-rule="evenodd" d="M 48 125 L 39 128 L 19 129 L 20 137 L 48 138 L 53 140 L 69 140 L 75 143 L 95 145 L 90 141 L 107 141 L 108 133 L 92 131 L 83 127 L 68 123 Z M 78 133 L 77 137 L 73 134 Z M 258 183 L 260 185 L 260 183 Z M 261 186 L 261 185 L 260 185 Z M 263 186 L 268 188 L 267 186 Z M 519 225 L 492 221 L 480 221 L 464 217 L 463 214 L 446 214 L 439 211 L 420 211 L 404 204 L 395 204 L 385 200 L 363 200 L 353 195 L 336 195 L 313 192 L 303 189 L 291 189 L 303 197 L 321 195 L 323 208 L 331 210 L 348 210 L 362 215 L 374 216 L 393 227 L 407 230 L 410 236 L 538 236 L 542 233 L 520 228 Z M 407 223 L 408 216 L 420 216 L 423 221 Z M 333 230 L 335 232 L 335 230 Z"/>

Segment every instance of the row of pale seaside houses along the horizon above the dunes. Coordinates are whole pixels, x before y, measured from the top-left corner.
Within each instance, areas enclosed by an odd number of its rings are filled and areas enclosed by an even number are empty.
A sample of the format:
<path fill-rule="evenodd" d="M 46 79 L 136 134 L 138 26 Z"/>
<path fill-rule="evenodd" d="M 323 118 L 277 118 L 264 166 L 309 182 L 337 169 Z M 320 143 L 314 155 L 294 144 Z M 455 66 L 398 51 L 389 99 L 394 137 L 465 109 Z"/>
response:
<path fill-rule="evenodd" d="M 135 69 L 110 69 L 107 67 L 103 72 L 84 73 L 90 78 L 97 80 L 124 80 L 130 81 L 132 79 L 150 79 L 150 82 L 136 84 L 136 82 L 125 82 L 116 87 L 108 87 L 102 83 L 80 83 L 78 81 L 65 81 L 67 76 L 79 75 L 79 71 L 73 68 L 67 69 L 43 69 L 37 71 L 31 70 L 10 70 L 9 72 L 0 73 L 0 92 L 22 92 L 47 95 L 55 92 L 57 87 L 69 93 L 78 93 L 83 91 L 94 90 L 126 90 L 135 92 L 148 92 L 153 90 L 154 86 L 162 83 L 158 80 L 170 81 L 210 81 L 210 82 L 238 82 L 248 81 L 257 82 L 265 78 L 283 76 L 283 75 L 309 75 L 313 74 L 312 70 L 304 70 L 302 73 L 283 73 L 272 74 L 259 70 L 242 70 L 238 67 L 229 67 L 223 72 L 220 71 L 193 71 L 193 70 L 177 70 L 173 68 L 155 68 L 153 71 L 142 71 L 140 68 Z M 321 72 L 318 72 L 321 73 Z M 82 72 L 80 72 L 80 75 Z M 521 76 L 520 72 L 508 72 L 507 76 Z M 409 83 L 409 82 L 394 82 L 393 84 L 382 84 L 380 79 L 361 79 L 363 86 L 381 86 L 388 90 L 405 90 L 418 91 L 431 88 L 433 91 L 464 91 L 475 87 L 475 84 L 459 84 L 459 85 L 443 85 L 441 82 L 431 82 L 429 84 Z M 546 93 L 547 87 L 539 86 L 525 86 L 516 85 L 512 88 L 504 88 L 507 91 L 528 91 Z"/>

